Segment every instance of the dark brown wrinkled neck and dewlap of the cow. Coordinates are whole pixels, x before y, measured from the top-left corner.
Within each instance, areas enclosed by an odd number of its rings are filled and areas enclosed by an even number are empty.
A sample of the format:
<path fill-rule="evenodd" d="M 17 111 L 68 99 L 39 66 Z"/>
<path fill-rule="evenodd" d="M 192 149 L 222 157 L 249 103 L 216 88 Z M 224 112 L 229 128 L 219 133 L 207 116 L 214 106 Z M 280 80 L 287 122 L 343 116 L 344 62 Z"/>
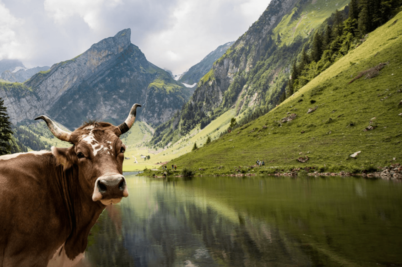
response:
<path fill-rule="evenodd" d="M 88 234 L 105 206 L 94 202 L 80 186 L 78 167 L 64 171 L 63 166 L 54 166 L 57 188 L 68 214 L 68 237 L 64 249 L 69 259 L 74 259 L 86 249 Z"/>

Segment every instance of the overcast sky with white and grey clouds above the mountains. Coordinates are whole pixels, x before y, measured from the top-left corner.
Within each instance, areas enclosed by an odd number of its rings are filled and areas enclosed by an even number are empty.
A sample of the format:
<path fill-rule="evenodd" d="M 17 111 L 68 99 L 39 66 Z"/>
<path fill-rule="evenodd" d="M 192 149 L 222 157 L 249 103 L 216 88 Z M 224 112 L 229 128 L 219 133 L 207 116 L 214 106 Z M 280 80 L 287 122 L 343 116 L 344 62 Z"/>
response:
<path fill-rule="evenodd" d="M 270 0 L 0 0 L 0 60 L 51 66 L 131 28 L 148 61 L 180 74 L 235 41 Z"/>

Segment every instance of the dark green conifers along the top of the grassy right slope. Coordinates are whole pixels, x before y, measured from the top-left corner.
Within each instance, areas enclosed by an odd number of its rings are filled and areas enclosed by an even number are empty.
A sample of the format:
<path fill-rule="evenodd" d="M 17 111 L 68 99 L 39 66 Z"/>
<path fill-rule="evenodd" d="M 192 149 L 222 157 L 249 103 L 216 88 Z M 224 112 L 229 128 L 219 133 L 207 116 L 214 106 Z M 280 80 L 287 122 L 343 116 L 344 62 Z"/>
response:
<path fill-rule="evenodd" d="M 401 4 L 402 0 L 351 0 L 344 10 L 336 10 L 293 61 L 282 100 L 359 46 L 369 32 L 390 20 Z"/>

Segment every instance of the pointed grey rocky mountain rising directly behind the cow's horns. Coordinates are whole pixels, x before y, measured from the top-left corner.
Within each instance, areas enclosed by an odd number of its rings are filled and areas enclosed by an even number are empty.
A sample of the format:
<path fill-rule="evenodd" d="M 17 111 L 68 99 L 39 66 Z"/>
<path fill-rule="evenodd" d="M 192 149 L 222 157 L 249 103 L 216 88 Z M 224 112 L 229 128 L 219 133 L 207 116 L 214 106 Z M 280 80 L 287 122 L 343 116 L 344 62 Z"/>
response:
<path fill-rule="evenodd" d="M 148 62 L 130 41 L 131 30 L 103 39 L 72 60 L 54 64 L 24 84 L 0 84 L 13 123 L 40 114 L 74 128 L 88 119 L 121 123 L 133 103 L 152 125 L 170 119 L 192 90 Z"/>

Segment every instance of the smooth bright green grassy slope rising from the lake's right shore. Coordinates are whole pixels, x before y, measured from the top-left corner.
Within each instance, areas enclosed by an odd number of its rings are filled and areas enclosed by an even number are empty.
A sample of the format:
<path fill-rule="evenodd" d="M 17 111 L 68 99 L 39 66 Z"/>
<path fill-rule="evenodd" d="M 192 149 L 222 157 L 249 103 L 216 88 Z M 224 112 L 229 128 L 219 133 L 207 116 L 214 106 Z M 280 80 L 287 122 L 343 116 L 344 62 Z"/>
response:
<path fill-rule="evenodd" d="M 393 158 L 400 162 L 401 54 L 399 13 L 277 108 L 174 163 L 217 173 L 218 166 L 225 166 L 219 171 L 230 172 L 257 159 L 279 169 L 319 166 L 327 171 L 376 168 L 395 162 Z M 361 71 L 388 61 L 377 77 L 363 76 L 348 84 Z M 313 107 L 316 111 L 308 114 Z M 281 123 L 291 113 L 297 117 Z M 375 129 L 363 131 L 369 125 Z M 357 158 L 349 156 L 358 151 Z M 310 160 L 297 162 L 306 155 Z"/>

